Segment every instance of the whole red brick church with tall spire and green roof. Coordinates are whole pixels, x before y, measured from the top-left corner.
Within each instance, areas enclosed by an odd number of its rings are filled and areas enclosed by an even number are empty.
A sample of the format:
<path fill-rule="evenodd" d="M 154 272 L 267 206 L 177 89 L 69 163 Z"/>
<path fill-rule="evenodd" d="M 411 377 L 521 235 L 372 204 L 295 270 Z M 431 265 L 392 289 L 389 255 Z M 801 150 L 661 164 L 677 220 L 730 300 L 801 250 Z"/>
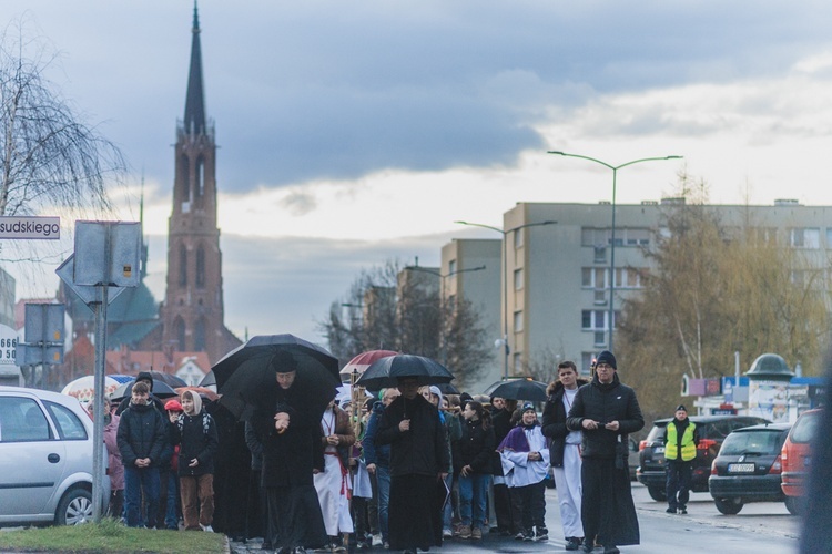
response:
<path fill-rule="evenodd" d="M 108 373 L 175 372 L 182 365 L 211 365 L 242 341 L 224 324 L 222 253 L 216 224 L 216 143 L 205 115 L 200 23 L 194 8 L 185 116 L 176 125 L 173 211 L 168 225 L 168 277 L 158 304 L 142 283 L 108 308 Z M 61 285 L 59 300 L 73 322 L 73 348 L 63 378 L 92 372 L 93 314 Z M 78 347 L 78 348 L 75 348 Z M 202 368 L 205 371 L 210 367 Z M 63 379 L 62 379 L 63 380 Z"/>

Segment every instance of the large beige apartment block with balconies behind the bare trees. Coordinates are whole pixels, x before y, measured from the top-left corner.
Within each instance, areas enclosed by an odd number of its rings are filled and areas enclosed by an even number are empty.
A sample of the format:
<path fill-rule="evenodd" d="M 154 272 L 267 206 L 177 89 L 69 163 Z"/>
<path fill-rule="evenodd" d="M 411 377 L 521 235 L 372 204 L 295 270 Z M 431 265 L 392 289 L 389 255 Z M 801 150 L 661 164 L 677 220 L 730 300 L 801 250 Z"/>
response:
<path fill-rule="evenodd" d="M 493 293 L 466 287 L 464 294 L 468 300 L 487 306 L 485 314 L 491 318 L 490 325 L 495 326 L 495 314 L 499 314 L 498 329 L 503 329 L 500 319 L 505 319 L 510 349 L 508 375 L 526 375 L 530 366 L 554 367 L 565 359 L 574 360 L 580 371 L 588 373 L 592 357 L 609 347 L 610 274 L 615 278 L 615 314 L 625 298 L 641 288 L 639 269 L 649 265 L 642 248 L 649 247 L 660 230 L 662 214 L 682 202 L 670 198 L 617 205 L 612 271 L 609 203 L 518 203 L 506 212 L 501 254 L 505 266 L 500 277 L 505 293 L 498 296 L 499 306 L 494 305 Z M 711 207 L 726 226 L 755 227 L 800 248 L 813 265 L 829 265 L 832 206 L 777 201 L 771 206 Z M 448 271 L 450 264 L 458 264 L 464 257 L 458 245 L 446 245 L 443 269 Z M 466 263 L 470 265 L 470 260 Z M 456 286 L 474 275 L 460 275 Z M 479 297 L 483 294 L 487 296 Z"/>

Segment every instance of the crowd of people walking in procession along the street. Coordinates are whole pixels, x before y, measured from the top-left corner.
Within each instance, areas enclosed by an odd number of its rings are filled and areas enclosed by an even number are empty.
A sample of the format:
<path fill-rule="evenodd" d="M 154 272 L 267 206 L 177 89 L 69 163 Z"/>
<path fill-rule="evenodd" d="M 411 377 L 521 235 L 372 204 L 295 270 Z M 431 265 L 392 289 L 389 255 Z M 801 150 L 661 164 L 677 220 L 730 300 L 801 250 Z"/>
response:
<path fill-rule="evenodd" d="M 444 541 L 480 542 L 486 533 L 546 542 L 550 475 L 566 550 L 601 545 L 609 554 L 639 543 L 626 445 L 643 418 L 611 352 L 598 356 L 591 381 L 575 363 L 560 363 L 542 421 L 531 402 L 443 394 L 416 378 L 333 399 L 319 417 L 295 393 L 291 356 L 273 370 L 273 409 L 242 429 L 219 408 L 215 421 L 193 391 L 162 404 L 140 376 L 121 413 L 108 414 L 111 513 L 131 526 L 212 531 L 215 473 L 223 473 L 220 482 L 234 479 L 215 460 L 244 444 L 245 479 L 236 494 L 217 499 L 225 514 L 217 531 L 262 537 L 263 548 L 278 554 L 415 554 Z M 680 509 L 686 500 L 680 495 Z M 234 522 L 232 512 L 244 515 Z"/>

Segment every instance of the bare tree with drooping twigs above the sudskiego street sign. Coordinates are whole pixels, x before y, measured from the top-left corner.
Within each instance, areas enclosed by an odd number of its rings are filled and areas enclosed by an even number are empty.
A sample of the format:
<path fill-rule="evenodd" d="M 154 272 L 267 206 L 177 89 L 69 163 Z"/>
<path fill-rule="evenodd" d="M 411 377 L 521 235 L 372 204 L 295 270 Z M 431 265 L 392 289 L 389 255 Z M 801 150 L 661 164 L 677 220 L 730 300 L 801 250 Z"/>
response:
<path fill-rule="evenodd" d="M 0 215 L 108 214 L 108 185 L 124 158 L 47 79 L 57 55 L 23 28 L 18 21 L 0 37 Z"/>

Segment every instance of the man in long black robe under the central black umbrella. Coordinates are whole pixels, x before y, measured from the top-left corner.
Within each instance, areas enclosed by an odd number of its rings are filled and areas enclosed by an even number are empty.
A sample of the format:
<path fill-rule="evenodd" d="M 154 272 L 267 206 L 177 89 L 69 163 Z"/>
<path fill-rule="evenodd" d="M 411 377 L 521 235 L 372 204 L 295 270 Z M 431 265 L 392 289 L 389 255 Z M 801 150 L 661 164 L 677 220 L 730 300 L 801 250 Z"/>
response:
<path fill-rule="evenodd" d="M 450 465 L 439 411 L 418 394 L 416 378 L 399 378 L 402 396 L 382 414 L 377 444 L 390 445 L 390 550 L 442 546 L 444 481 Z"/>

